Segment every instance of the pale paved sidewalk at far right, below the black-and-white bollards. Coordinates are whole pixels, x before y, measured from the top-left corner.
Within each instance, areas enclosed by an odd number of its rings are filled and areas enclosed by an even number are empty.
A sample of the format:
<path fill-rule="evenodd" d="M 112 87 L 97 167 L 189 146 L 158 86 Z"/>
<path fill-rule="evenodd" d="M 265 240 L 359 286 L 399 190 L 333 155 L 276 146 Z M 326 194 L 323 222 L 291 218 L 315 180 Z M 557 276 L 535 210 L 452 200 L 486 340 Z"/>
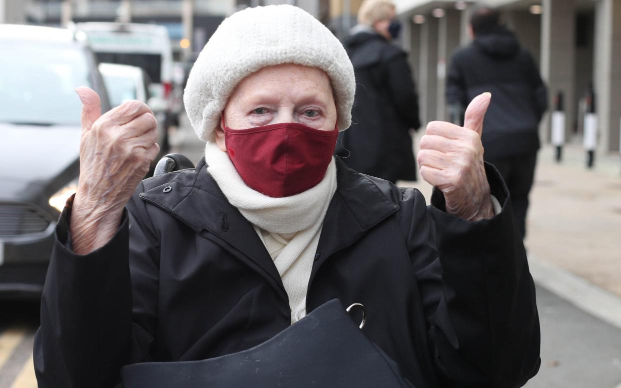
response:
<path fill-rule="evenodd" d="M 539 154 L 526 245 L 538 258 L 621 296 L 621 157 L 584 167 L 584 152 L 565 150 L 556 164 Z"/>

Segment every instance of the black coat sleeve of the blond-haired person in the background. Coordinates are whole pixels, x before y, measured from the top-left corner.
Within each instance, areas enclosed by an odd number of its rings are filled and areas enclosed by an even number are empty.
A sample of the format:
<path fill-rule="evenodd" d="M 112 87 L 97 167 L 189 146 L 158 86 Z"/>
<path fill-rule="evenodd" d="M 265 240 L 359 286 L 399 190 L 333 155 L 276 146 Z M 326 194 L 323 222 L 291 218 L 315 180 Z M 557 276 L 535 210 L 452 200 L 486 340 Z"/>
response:
<path fill-rule="evenodd" d="M 397 114 L 409 128 L 419 129 L 419 96 L 407 64 L 406 53 L 401 51 L 389 58 L 384 64 L 384 71 L 391 102 Z"/>

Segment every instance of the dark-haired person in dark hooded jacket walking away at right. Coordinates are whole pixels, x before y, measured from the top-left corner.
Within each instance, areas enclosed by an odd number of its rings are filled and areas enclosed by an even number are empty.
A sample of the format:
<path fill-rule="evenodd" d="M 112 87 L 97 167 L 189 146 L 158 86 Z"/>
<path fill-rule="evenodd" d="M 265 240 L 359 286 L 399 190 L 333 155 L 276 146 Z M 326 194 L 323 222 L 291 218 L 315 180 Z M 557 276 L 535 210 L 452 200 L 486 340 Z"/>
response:
<path fill-rule="evenodd" d="M 522 236 L 528 193 L 533 183 L 538 126 L 548 108 L 548 94 L 528 50 L 500 24 L 499 12 L 481 7 L 470 20 L 471 45 L 456 51 L 446 79 L 446 102 L 456 110 L 481 92 L 494 96 L 485 117 L 485 160 L 501 173 Z"/>

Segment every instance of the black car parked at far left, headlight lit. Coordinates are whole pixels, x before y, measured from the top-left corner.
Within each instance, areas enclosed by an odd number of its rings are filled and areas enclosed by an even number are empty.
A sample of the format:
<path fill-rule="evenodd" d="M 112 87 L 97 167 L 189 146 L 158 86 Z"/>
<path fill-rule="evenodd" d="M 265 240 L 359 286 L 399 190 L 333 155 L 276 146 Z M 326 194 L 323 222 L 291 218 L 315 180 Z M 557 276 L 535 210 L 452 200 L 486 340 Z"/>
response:
<path fill-rule="evenodd" d="M 0 25 L 0 298 L 38 298 L 53 231 L 79 172 L 81 103 L 89 86 L 109 109 L 86 37 Z"/>

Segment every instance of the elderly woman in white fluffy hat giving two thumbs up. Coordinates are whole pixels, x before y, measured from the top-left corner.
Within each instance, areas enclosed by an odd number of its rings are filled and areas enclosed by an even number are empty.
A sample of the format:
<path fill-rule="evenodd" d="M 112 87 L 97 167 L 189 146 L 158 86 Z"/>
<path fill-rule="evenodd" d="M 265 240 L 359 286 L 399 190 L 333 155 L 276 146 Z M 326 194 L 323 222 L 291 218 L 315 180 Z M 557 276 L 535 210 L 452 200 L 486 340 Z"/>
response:
<path fill-rule="evenodd" d="M 126 364 L 245 350 L 333 298 L 366 306 L 363 332 L 417 388 L 532 377 L 533 282 L 507 190 L 483 163 L 490 96 L 473 100 L 465 128 L 428 125 L 427 207 L 333 157 L 354 90 L 345 50 L 311 15 L 237 12 L 185 91 L 205 160 L 141 182 L 158 152 L 148 107 L 101 115 L 78 89 L 79 189 L 45 283 L 39 387 L 112 387 Z"/>

